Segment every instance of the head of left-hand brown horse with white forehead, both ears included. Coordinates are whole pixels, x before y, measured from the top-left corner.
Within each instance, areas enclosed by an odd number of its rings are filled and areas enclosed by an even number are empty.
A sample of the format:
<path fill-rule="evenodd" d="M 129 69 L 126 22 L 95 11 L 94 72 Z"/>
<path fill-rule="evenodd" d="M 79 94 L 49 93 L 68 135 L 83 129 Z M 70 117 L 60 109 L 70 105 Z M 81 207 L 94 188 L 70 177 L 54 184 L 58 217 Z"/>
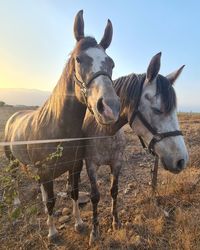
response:
<path fill-rule="evenodd" d="M 86 104 L 101 124 L 116 122 L 120 103 L 112 84 L 113 60 L 106 54 L 112 40 L 112 23 L 108 20 L 101 42 L 84 36 L 83 11 L 75 18 L 74 35 L 77 41 L 72 52 L 75 94 Z"/>

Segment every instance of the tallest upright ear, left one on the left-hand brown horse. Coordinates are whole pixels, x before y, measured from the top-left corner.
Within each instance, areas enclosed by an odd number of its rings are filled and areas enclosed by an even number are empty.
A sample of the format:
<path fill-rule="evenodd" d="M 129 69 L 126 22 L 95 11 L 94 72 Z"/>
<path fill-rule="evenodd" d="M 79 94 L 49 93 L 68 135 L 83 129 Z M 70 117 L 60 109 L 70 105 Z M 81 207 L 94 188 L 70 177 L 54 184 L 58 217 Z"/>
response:
<path fill-rule="evenodd" d="M 80 10 L 74 20 L 74 36 L 78 42 L 84 37 L 84 20 L 83 20 L 83 10 Z"/>

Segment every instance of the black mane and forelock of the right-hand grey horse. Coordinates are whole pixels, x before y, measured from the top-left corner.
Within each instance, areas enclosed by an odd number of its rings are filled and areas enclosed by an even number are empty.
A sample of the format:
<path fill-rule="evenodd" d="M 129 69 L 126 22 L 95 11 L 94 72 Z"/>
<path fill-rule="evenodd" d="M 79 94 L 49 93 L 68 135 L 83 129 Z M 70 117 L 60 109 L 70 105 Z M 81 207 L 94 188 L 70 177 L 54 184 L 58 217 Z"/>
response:
<path fill-rule="evenodd" d="M 130 74 L 114 81 L 114 88 L 120 97 L 122 109 L 130 107 L 134 110 L 138 103 L 141 86 L 145 81 L 146 74 Z M 164 112 L 170 113 L 176 107 L 176 93 L 172 84 L 162 75 L 157 76 L 156 95 L 161 96 Z"/>

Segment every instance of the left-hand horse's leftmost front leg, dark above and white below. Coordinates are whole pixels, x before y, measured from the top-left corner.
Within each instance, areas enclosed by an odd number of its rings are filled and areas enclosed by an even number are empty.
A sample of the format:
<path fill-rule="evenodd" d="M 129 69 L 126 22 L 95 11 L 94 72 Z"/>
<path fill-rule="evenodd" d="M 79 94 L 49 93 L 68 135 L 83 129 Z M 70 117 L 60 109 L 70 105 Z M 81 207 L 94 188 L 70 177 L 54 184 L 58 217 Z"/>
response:
<path fill-rule="evenodd" d="M 55 197 L 53 192 L 53 181 L 45 182 L 41 185 L 41 191 L 43 196 L 43 201 L 46 203 L 46 209 L 48 211 L 47 225 L 49 227 L 48 238 L 53 239 L 58 235 L 53 218 L 53 208 L 55 205 Z"/>

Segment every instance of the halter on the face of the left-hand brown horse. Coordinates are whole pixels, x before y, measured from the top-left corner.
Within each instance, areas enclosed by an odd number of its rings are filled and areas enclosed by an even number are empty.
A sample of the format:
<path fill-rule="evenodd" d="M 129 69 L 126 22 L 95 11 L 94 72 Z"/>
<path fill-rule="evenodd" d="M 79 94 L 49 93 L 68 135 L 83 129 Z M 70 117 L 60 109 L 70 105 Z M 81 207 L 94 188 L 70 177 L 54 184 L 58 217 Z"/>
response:
<path fill-rule="evenodd" d="M 96 73 L 94 73 L 91 78 L 87 81 L 87 82 L 84 82 L 84 81 L 80 81 L 77 76 L 76 76 L 76 73 L 74 72 L 73 74 L 74 76 L 74 82 L 80 87 L 81 89 L 81 92 L 83 94 L 83 99 L 84 99 L 84 103 L 86 104 L 87 108 L 90 110 L 90 112 L 92 114 L 94 114 L 92 108 L 88 105 L 88 101 L 87 101 L 87 98 L 88 98 L 88 88 L 90 87 L 90 84 L 94 81 L 94 79 L 96 79 L 98 76 L 107 76 L 109 78 L 109 80 L 113 83 L 112 81 L 112 78 L 111 76 L 105 72 L 105 71 L 98 71 Z"/>

